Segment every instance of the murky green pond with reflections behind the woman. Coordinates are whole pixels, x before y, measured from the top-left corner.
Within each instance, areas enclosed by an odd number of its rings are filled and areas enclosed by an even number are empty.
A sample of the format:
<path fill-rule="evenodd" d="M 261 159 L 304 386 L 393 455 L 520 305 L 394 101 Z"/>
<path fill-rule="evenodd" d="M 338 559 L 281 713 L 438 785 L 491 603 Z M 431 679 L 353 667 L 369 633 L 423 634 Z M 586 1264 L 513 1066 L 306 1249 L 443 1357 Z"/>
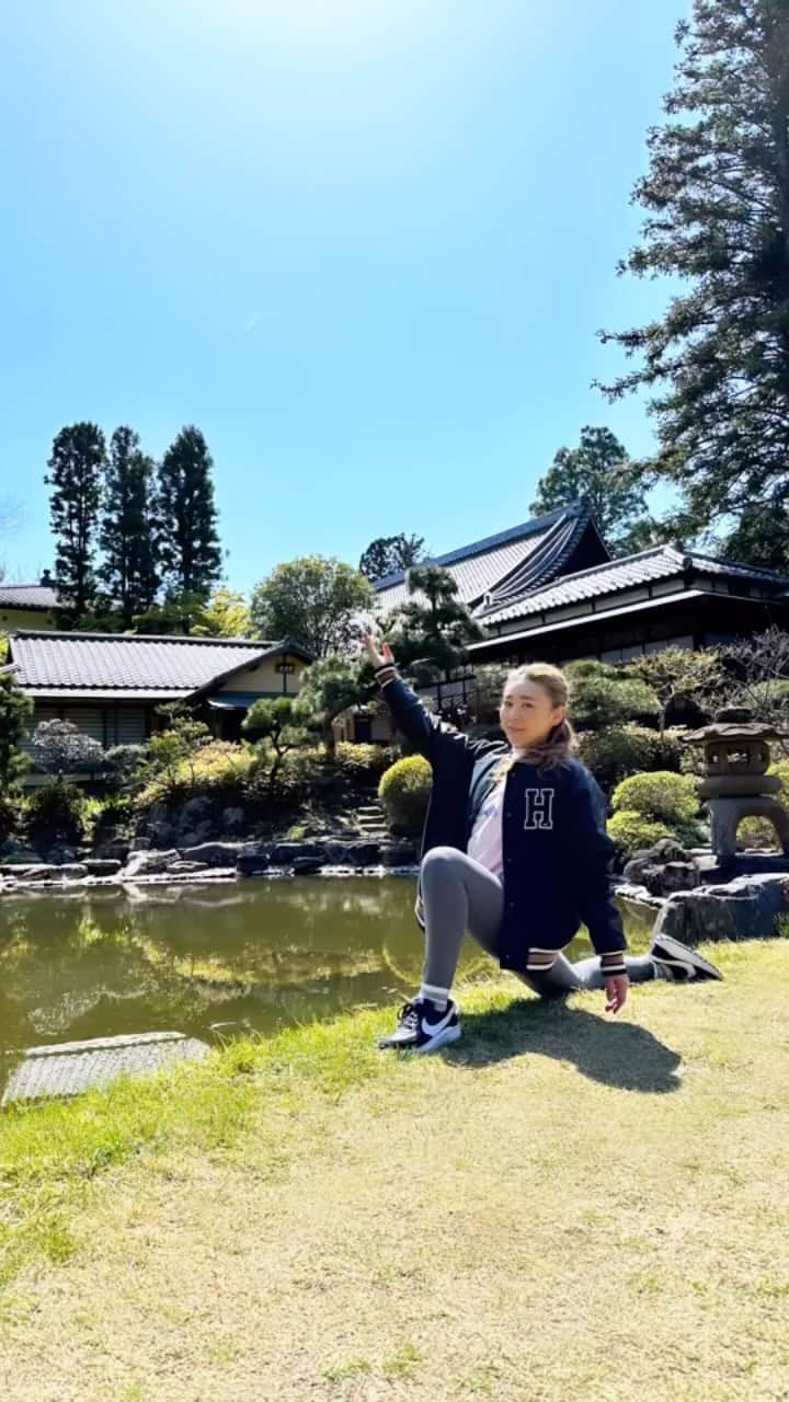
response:
<path fill-rule="evenodd" d="M 418 987 L 406 876 L 13 896 L 0 904 L 0 1053 L 212 1025 L 256 1032 L 390 1004 Z M 633 951 L 646 927 L 629 925 Z M 578 938 L 573 956 L 590 953 Z M 466 939 L 459 974 L 497 965 Z"/>

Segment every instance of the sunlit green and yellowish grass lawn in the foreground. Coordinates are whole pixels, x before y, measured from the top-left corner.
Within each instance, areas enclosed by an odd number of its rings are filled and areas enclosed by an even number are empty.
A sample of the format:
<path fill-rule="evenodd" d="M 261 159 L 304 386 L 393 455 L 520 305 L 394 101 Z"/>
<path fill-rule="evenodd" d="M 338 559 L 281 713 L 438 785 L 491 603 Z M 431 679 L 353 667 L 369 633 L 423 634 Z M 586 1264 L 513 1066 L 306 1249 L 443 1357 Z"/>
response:
<path fill-rule="evenodd" d="M 3 1402 L 789 1398 L 789 942 L 0 1120 Z"/>

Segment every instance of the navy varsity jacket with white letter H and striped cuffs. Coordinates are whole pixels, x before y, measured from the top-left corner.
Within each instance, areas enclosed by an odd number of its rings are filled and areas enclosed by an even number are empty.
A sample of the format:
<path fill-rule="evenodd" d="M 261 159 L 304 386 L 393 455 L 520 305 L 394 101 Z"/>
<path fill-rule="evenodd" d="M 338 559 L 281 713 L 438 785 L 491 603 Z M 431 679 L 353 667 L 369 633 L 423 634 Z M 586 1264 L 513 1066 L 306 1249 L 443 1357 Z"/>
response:
<path fill-rule="evenodd" d="M 432 847 L 465 852 L 508 746 L 472 740 L 439 721 L 392 669 L 379 669 L 379 681 L 397 726 L 432 767 L 421 855 Z M 562 949 L 581 924 L 598 955 L 626 949 L 609 880 L 615 844 L 605 830 L 597 781 L 578 760 L 567 758 L 543 770 L 514 764 L 504 782 L 500 966 L 525 970 L 529 945 Z"/>

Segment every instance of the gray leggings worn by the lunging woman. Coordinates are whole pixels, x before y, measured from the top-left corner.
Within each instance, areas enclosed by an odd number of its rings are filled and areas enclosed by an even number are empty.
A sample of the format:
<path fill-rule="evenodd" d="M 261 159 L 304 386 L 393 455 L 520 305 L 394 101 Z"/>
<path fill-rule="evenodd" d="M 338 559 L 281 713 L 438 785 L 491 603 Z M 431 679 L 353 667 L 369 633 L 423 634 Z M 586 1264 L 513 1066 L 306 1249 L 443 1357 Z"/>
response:
<path fill-rule="evenodd" d="M 504 887 L 498 876 L 455 847 L 434 847 L 421 864 L 421 894 L 425 917 L 423 983 L 452 987 L 466 930 L 483 949 L 498 958 L 504 914 Z M 658 976 L 650 955 L 628 955 L 625 963 L 633 983 Z M 570 963 L 560 953 L 549 969 L 518 973 L 518 979 L 546 998 L 605 987 L 597 956 Z"/>

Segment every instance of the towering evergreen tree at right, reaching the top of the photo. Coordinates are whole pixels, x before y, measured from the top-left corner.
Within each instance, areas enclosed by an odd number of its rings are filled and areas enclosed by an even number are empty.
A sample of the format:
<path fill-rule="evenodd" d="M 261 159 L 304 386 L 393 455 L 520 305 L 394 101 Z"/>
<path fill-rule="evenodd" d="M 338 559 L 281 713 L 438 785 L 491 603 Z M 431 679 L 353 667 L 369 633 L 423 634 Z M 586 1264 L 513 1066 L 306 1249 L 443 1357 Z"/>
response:
<path fill-rule="evenodd" d="M 621 265 L 679 287 L 661 318 L 602 332 L 640 363 L 605 393 L 653 391 L 654 467 L 682 533 L 769 501 L 789 463 L 789 0 L 694 0 L 667 121 Z"/>

